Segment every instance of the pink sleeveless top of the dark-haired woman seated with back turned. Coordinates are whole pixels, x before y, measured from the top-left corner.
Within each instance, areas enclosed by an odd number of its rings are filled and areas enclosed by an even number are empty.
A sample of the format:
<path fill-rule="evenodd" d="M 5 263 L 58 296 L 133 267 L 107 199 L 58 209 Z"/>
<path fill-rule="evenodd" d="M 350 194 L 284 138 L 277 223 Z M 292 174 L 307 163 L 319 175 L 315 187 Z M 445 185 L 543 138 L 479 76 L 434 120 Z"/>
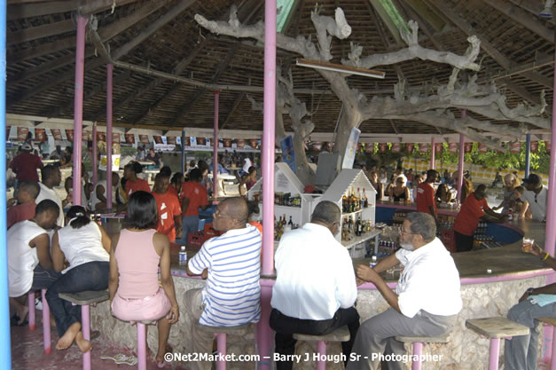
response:
<path fill-rule="evenodd" d="M 122 229 L 115 251 L 121 298 L 137 299 L 154 295 L 159 290 L 158 268 L 161 256 L 153 246 L 154 229 L 129 232 Z"/>

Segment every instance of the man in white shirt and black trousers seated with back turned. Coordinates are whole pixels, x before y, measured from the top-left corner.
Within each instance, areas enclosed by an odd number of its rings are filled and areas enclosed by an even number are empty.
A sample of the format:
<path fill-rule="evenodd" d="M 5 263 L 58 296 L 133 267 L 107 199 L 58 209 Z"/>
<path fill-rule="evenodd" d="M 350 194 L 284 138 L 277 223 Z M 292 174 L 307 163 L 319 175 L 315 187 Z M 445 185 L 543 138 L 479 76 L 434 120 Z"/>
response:
<path fill-rule="evenodd" d="M 325 335 L 348 326 L 342 342 L 344 362 L 359 328 L 356 276 L 348 250 L 335 238 L 341 210 L 332 201 L 317 204 L 311 222 L 286 232 L 275 256 L 277 278 L 272 288 L 270 327 L 276 331 L 274 351 L 292 358 L 294 334 Z M 293 361 L 277 361 L 290 370 Z"/>

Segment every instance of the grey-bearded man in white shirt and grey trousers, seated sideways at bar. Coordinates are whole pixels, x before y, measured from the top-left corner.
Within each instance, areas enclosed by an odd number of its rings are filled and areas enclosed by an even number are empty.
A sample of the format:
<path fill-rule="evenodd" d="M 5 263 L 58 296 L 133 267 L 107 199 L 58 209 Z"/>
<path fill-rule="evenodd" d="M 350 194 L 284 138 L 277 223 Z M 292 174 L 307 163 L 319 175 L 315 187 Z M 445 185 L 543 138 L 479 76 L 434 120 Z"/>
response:
<path fill-rule="evenodd" d="M 442 241 L 435 237 L 433 216 L 410 213 L 403 221 L 400 250 L 388 256 L 374 268 L 357 266 L 358 282 L 369 281 L 380 291 L 391 308 L 360 327 L 347 370 L 379 368 L 403 369 L 395 361 L 405 354 L 403 342 L 395 335 L 434 336 L 450 332 L 461 310 L 459 273 Z M 395 291 L 390 289 L 379 273 L 403 264 L 404 269 Z"/>

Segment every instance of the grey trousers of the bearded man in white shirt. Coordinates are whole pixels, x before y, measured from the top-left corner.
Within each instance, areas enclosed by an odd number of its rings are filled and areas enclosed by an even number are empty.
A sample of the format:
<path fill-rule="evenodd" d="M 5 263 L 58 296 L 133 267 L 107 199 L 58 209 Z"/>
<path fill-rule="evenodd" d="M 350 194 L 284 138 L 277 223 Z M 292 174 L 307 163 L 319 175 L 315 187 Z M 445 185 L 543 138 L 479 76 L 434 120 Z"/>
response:
<path fill-rule="evenodd" d="M 403 342 L 396 341 L 395 335 L 442 335 L 454 327 L 456 318 L 455 315 L 438 316 L 421 310 L 410 319 L 390 308 L 361 324 L 350 358 L 354 358 L 354 355 L 359 357 L 356 361 L 349 361 L 346 370 L 376 370 L 380 365 L 380 354 L 405 354 Z M 389 361 L 383 362 L 381 368 L 402 370 L 404 367 L 402 362 Z"/>

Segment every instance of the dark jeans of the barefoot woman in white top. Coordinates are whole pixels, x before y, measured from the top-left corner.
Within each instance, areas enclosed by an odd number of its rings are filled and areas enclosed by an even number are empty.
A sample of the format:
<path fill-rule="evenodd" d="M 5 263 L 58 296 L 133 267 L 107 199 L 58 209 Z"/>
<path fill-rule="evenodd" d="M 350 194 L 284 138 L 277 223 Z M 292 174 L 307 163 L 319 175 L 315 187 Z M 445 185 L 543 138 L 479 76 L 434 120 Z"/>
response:
<path fill-rule="evenodd" d="M 81 322 L 81 306 L 72 305 L 59 298 L 59 293 L 77 293 L 83 290 L 103 290 L 108 287 L 110 264 L 89 262 L 80 264 L 54 281 L 46 291 L 46 300 L 56 320 L 56 329 L 61 337 L 75 322 Z"/>

